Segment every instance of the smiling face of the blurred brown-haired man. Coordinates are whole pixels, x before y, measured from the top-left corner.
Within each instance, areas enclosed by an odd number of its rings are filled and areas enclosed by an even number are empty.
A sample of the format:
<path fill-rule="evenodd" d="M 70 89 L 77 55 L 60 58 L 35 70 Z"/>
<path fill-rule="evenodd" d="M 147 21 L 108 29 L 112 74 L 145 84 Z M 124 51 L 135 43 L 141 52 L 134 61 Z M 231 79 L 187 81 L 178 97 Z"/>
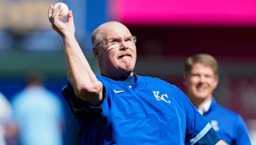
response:
<path fill-rule="evenodd" d="M 218 85 L 218 78 L 212 68 L 202 63 L 196 63 L 191 72 L 184 77 L 191 99 L 211 99 L 212 92 Z"/>

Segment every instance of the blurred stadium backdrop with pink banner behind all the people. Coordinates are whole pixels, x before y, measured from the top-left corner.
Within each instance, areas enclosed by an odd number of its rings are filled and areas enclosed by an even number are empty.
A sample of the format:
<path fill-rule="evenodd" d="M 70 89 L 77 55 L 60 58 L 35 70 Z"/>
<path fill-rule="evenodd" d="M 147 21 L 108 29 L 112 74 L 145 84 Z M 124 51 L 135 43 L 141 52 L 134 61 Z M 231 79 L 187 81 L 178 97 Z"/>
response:
<path fill-rule="evenodd" d="M 38 69 L 45 86 L 61 97 L 66 79 L 62 40 L 47 19 L 53 0 L 0 0 L 0 92 L 8 99 L 21 90 L 23 75 Z M 220 64 L 216 100 L 256 125 L 256 2 L 250 0 L 66 0 L 73 11 L 76 37 L 92 69 L 90 36 L 97 25 L 118 20 L 137 36 L 135 72 L 182 83 L 186 57 L 210 53 Z M 63 99 L 62 99 L 63 100 Z M 74 118 L 65 106 L 65 144 L 77 142 Z M 252 126 L 251 126 L 252 125 Z"/>

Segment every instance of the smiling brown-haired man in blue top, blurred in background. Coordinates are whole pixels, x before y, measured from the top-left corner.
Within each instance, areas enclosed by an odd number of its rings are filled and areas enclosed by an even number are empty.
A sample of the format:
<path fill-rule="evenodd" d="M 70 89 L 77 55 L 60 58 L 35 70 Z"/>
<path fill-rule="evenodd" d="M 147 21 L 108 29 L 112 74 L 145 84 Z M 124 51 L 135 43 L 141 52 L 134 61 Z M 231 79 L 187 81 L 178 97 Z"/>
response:
<path fill-rule="evenodd" d="M 184 69 L 186 94 L 222 140 L 228 144 L 251 144 L 241 116 L 220 106 L 212 95 L 219 82 L 218 74 L 218 62 L 211 55 L 188 57 Z"/>

